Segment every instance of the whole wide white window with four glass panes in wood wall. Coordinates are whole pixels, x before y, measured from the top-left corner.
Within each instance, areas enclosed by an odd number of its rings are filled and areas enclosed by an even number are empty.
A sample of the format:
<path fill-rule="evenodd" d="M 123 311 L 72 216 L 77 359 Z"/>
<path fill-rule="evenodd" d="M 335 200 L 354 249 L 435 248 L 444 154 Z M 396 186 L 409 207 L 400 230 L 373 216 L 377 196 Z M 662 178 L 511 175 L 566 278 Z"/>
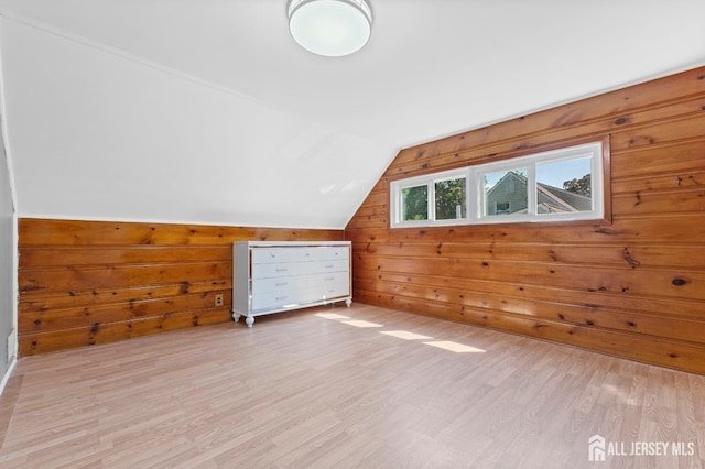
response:
<path fill-rule="evenodd" d="M 604 146 L 594 142 L 394 181 L 391 226 L 604 219 Z"/>

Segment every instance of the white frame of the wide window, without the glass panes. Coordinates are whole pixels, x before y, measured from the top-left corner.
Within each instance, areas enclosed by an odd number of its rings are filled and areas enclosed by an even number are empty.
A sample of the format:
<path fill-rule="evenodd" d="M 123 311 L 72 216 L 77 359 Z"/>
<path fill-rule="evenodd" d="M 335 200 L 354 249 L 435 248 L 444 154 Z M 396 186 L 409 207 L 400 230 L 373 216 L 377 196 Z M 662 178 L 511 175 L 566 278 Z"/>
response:
<path fill-rule="evenodd" d="M 502 160 L 499 162 L 485 163 L 468 166 L 459 170 L 451 170 L 438 173 L 431 173 L 421 176 L 398 179 L 390 183 L 390 225 L 391 228 L 412 228 L 432 226 L 454 226 L 454 225 L 494 225 L 512 222 L 556 222 L 577 220 L 605 220 L 606 219 L 606 194 L 608 182 L 604 181 L 606 175 L 606 152 L 607 141 L 596 141 L 583 143 L 557 150 L 550 150 L 533 153 L 525 156 Z M 536 166 L 546 163 L 560 163 L 563 161 L 590 159 L 590 198 L 593 209 L 589 211 L 571 211 L 539 214 L 536 200 Z M 528 208 L 527 212 L 485 215 L 486 194 L 485 175 L 491 173 L 507 172 L 517 168 L 527 170 Z M 467 187 L 466 216 L 462 219 L 436 220 L 435 219 L 435 184 L 438 181 L 455 179 L 465 177 Z M 402 189 L 408 187 L 427 186 L 429 195 L 429 219 L 427 220 L 402 220 Z M 511 204 L 510 204 L 511 206 Z"/>

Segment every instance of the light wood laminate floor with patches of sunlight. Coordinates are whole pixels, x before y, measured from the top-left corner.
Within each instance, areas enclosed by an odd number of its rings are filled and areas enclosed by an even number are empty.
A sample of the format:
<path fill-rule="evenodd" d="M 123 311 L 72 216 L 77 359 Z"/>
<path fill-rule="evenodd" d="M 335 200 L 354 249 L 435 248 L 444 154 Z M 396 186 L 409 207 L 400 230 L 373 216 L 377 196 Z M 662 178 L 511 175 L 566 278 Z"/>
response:
<path fill-rule="evenodd" d="M 705 377 L 359 304 L 25 358 L 0 411 L 2 468 L 705 461 Z"/>

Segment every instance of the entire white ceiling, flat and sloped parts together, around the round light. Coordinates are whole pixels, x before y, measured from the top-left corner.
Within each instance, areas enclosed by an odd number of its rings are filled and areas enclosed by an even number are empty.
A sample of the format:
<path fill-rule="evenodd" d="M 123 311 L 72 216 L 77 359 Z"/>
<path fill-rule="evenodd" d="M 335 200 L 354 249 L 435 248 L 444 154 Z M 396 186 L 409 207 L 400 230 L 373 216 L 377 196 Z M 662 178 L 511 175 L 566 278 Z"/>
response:
<path fill-rule="evenodd" d="M 21 217 L 344 228 L 399 150 L 705 63 L 702 0 L 0 0 Z"/>

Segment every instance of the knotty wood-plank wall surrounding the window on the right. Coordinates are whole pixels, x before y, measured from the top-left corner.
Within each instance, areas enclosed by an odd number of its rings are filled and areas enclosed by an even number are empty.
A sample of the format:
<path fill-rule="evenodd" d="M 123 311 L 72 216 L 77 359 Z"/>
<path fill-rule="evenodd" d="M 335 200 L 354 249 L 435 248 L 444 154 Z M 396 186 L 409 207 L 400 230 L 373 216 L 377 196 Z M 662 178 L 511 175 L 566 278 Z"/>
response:
<path fill-rule="evenodd" d="M 609 138 L 611 223 L 389 228 L 389 183 Z M 705 68 L 401 151 L 346 228 L 355 299 L 705 373 Z"/>

